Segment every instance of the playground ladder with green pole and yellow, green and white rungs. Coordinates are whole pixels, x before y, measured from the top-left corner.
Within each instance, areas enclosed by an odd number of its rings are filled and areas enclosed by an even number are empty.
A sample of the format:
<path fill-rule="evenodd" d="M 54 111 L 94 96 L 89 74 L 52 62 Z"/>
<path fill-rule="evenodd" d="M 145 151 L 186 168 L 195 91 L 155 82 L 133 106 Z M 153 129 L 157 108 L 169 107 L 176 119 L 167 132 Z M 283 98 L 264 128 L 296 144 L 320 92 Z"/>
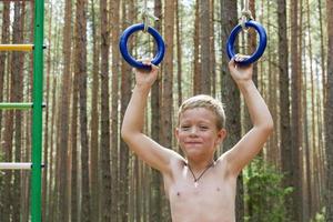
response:
<path fill-rule="evenodd" d="M 18 1 L 18 0 L 7 0 Z M 21 0 L 24 1 L 24 0 Z M 33 44 L 0 44 L 0 51 L 33 51 L 32 102 L 0 103 L 0 109 L 32 109 L 32 162 L 0 163 L 0 170 L 31 170 L 31 222 L 41 222 L 41 157 L 43 107 L 43 28 L 44 0 L 34 1 Z"/>

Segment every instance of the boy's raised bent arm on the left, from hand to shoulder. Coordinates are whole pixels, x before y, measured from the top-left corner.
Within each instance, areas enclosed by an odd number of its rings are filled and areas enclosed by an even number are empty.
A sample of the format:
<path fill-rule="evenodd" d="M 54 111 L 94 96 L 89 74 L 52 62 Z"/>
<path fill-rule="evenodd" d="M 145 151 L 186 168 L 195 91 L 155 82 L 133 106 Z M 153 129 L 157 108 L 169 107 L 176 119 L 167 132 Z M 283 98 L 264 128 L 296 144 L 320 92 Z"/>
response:
<path fill-rule="evenodd" d="M 169 172 L 169 163 L 173 157 L 180 158 L 174 151 L 161 147 L 142 133 L 144 123 L 144 109 L 151 85 L 158 75 L 158 68 L 152 65 L 150 72 L 135 70 L 137 84 L 127 108 L 121 135 L 129 148 L 152 168 Z"/>

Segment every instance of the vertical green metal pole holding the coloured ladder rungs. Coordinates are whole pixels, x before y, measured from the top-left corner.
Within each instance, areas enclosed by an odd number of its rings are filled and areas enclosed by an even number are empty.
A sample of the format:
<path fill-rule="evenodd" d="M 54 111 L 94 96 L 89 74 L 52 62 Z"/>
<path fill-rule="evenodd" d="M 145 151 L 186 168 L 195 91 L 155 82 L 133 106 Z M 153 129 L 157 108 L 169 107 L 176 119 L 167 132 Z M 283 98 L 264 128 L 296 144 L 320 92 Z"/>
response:
<path fill-rule="evenodd" d="M 41 222 L 44 0 L 34 2 L 31 221 Z"/>

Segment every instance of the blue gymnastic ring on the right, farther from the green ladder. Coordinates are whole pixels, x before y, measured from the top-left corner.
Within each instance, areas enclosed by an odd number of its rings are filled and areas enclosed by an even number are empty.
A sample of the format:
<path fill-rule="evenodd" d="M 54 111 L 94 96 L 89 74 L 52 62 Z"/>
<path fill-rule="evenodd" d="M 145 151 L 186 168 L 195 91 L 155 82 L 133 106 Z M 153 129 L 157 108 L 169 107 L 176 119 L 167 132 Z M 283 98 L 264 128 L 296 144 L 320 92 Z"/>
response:
<path fill-rule="evenodd" d="M 256 60 L 259 60 L 261 58 L 261 56 L 264 53 L 266 44 L 268 44 L 266 31 L 259 22 L 249 20 L 245 22 L 245 27 L 254 28 L 256 30 L 256 32 L 259 33 L 260 41 L 259 41 L 259 47 L 256 48 L 255 52 L 249 59 L 238 62 L 240 64 L 251 64 L 251 63 L 255 62 Z M 234 42 L 235 42 L 236 36 L 239 34 L 239 32 L 241 30 L 242 30 L 242 26 L 238 24 L 231 31 L 230 37 L 226 41 L 226 53 L 228 53 L 229 59 L 232 59 L 235 56 Z"/>

